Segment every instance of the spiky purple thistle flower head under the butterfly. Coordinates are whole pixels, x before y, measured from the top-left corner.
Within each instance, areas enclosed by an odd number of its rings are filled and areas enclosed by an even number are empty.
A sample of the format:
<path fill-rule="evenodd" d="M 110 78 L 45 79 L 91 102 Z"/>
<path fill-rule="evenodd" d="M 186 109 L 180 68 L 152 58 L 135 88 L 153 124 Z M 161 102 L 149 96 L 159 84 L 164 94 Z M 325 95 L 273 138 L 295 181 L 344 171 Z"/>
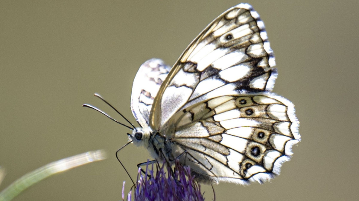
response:
<path fill-rule="evenodd" d="M 156 163 L 155 170 L 153 164 L 149 170 L 148 163 L 146 165 L 146 174 L 144 175 L 140 169 L 137 174 L 136 189 L 134 195 L 131 191 L 127 196 L 127 200 L 144 201 L 203 201 L 201 187 L 194 176 L 191 176 L 189 167 L 182 167 L 178 161 L 174 166 L 173 174 L 171 167 L 166 162 L 160 166 Z M 166 170 L 165 169 L 166 167 Z M 150 177 L 146 176 L 150 175 Z M 122 188 L 122 200 L 123 200 Z"/>

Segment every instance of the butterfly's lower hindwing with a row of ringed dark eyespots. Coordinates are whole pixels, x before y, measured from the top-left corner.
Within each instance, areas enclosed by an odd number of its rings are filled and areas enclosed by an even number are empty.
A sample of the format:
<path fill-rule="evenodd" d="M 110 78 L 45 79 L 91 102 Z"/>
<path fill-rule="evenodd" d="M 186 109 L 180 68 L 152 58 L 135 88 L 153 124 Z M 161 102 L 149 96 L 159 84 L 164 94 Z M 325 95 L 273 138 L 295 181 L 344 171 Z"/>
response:
<path fill-rule="evenodd" d="M 279 174 L 299 142 L 293 104 L 273 93 L 212 98 L 169 122 L 172 152 L 186 151 L 181 163 L 202 182 L 268 180 Z"/>

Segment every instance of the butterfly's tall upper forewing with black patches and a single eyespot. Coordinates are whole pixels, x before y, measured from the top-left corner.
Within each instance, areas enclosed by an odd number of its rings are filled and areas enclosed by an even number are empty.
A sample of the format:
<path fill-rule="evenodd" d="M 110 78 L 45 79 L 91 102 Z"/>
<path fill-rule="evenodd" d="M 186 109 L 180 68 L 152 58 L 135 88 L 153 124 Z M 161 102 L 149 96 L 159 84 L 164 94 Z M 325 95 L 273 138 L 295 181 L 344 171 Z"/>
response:
<path fill-rule="evenodd" d="M 248 4 L 212 21 L 182 53 L 154 99 L 150 123 L 220 95 L 271 91 L 277 76 L 264 24 Z"/>

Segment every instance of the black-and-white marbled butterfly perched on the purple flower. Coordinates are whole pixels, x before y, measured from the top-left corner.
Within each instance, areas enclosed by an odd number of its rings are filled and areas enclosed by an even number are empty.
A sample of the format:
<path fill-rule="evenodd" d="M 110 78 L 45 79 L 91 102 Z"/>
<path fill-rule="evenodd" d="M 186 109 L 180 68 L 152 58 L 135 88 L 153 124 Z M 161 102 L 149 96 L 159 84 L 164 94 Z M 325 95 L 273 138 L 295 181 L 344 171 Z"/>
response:
<path fill-rule="evenodd" d="M 300 141 L 294 105 L 272 93 L 277 70 L 264 23 L 249 4 L 214 19 L 173 67 L 139 68 L 129 140 L 157 161 L 178 159 L 202 183 L 264 182 Z"/>

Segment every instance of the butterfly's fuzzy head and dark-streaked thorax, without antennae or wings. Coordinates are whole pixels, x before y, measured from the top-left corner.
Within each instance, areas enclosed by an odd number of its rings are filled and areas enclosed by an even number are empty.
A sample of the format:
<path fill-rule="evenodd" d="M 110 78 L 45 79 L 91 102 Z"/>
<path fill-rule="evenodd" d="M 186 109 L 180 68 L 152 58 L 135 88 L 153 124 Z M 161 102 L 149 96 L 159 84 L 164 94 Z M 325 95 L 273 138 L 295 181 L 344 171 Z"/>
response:
<path fill-rule="evenodd" d="M 148 149 L 151 156 L 159 162 L 163 161 L 163 155 L 165 155 L 169 161 L 174 160 L 171 149 L 173 142 L 167 140 L 166 137 L 158 131 L 139 127 L 129 135 L 129 139 L 136 144 L 136 146 L 143 146 Z"/>

